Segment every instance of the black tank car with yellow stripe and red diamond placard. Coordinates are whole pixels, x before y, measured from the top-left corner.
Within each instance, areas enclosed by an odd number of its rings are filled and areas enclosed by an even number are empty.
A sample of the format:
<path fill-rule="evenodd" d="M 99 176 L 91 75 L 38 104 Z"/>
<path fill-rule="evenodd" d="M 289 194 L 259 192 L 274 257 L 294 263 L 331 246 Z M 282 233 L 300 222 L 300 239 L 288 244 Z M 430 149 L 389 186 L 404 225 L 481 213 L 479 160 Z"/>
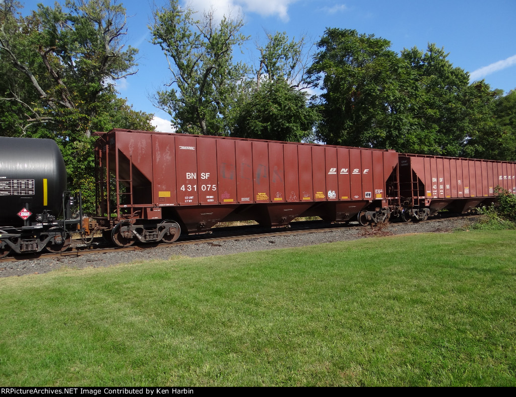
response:
<path fill-rule="evenodd" d="M 66 250 L 73 198 L 65 162 L 51 139 L 0 138 L 0 258 Z"/>

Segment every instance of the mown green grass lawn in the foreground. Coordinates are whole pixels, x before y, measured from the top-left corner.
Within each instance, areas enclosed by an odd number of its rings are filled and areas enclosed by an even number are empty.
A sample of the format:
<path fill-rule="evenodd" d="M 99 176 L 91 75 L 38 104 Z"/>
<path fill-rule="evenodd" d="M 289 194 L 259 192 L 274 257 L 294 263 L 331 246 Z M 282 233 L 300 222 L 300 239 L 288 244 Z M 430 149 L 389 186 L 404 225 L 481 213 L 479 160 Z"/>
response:
<path fill-rule="evenodd" d="M 516 386 L 516 231 L 0 279 L 0 386 Z"/>

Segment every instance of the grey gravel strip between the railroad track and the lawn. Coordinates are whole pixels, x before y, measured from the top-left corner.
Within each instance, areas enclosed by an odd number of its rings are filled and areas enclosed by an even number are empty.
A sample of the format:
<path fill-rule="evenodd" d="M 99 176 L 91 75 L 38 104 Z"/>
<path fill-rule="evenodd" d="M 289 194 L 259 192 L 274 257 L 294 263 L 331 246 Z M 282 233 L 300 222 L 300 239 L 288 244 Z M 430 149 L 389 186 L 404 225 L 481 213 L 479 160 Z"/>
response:
<path fill-rule="evenodd" d="M 401 235 L 412 233 L 449 233 L 451 230 L 469 226 L 472 218 L 447 218 L 433 222 L 392 223 L 380 235 Z M 337 230 L 307 231 L 295 235 L 271 235 L 270 237 L 248 238 L 216 243 L 195 243 L 189 245 L 163 246 L 148 250 L 118 251 L 107 254 L 86 254 L 79 257 L 63 256 L 52 259 L 19 260 L 0 263 L 0 277 L 41 274 L 63 267 L 84 269 L 88 267 L 108 267 L 119 263 L 147 260 L 167 260 L 173 256 L 203 257 L 227 255 L 242 252 L 272 250 L 287 247 L 317 245 L 335 241 L 350 241 L 359 238 L 374 238 L 378 233 L 370 228 L 347 228 Z"/>

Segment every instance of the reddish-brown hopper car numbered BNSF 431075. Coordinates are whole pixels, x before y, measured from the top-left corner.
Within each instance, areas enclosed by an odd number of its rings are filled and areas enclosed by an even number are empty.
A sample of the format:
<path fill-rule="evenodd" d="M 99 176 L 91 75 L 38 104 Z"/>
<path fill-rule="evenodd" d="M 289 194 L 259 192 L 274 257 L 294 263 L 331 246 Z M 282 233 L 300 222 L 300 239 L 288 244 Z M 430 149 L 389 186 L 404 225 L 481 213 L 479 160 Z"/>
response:
<path fill-rule="evenodd" d="M 385 184 L 398 154 L 115 129 L 100 135 L 96 162 L 96 221 L 114 227 L 112 238 L 126 245 L 133 236 L 173 241 L 180 230 L 207 231 L 221 221 L 345 222 L 361 211 L 363 218 L 367 212 L 369 219 L 385 219 Z"/>

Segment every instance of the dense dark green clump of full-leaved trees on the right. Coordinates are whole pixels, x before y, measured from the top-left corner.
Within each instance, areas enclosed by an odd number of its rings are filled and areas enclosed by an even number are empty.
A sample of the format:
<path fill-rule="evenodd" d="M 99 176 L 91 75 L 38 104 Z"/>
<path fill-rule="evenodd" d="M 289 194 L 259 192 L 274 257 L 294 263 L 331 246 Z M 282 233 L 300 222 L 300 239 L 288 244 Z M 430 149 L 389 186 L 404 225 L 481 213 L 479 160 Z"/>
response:
<path fill-rule="evenodd" d="M 356 30 L 329 28 L 310 69 L 325 91 L 316 131 L 329 144 L 402 153 L 507 159 L 515 140 L 493 118 L 498 91 L 447 59 L 443 48 L 404 49 Z M 496 144 L 493 144 L 493 140 Z"/>

